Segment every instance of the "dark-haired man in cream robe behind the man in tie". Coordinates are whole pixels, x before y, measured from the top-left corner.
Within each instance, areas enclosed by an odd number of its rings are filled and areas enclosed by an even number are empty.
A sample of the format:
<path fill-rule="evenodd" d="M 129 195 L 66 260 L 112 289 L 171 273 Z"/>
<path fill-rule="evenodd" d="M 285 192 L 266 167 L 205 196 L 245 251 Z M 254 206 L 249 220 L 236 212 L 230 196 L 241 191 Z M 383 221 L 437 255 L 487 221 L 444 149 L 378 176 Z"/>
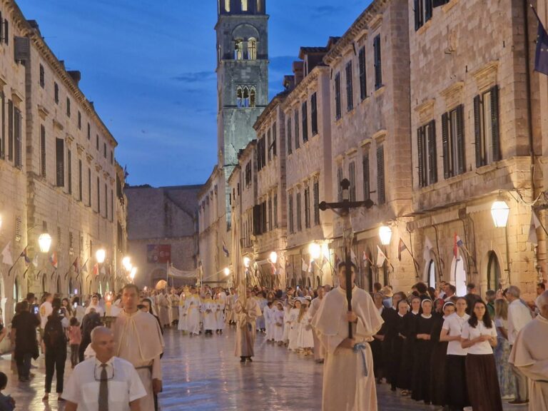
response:
<path fill-rule="evenodd" d="M 163 337 L 158 320 L 137 308 L 139 289 L 128 284 L 122 290 L 123 310 L 113 325 L 117 357 L 131 362 L 146 390 L 141 411 L 154 411 L 154 396 L 162 391 Z"/>

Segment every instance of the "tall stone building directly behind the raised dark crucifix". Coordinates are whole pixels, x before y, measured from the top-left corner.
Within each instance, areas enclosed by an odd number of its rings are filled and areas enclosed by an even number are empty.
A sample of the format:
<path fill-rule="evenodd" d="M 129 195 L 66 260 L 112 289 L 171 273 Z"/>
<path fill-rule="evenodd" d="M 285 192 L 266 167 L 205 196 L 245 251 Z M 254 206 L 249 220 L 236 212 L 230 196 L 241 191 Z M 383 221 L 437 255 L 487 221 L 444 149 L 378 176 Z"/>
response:
<path fill-rule="evenodd" d="M 396 258 L 400 238 L 409 244 L 404 216 L 411 210 L 410 68 L 405 1 L 374 1 L 326 54 L 331 81 L 333 198 L 340 181 L 350 181 L 350 201 L 371 199 L 370 209 L 352 210 L 352 260 L 357 283 L 366 290 L 380 282 L 407 288 L 415 280 L 412 258 Z M 329 211 L 326 213 L 330 213 Z M 379 228 L 392 229 L 390 245 Z M 335 218 L 335 260 L 344 260 L 342 222 Z M 380 267 L 379 250 L 388 258 Z"/>

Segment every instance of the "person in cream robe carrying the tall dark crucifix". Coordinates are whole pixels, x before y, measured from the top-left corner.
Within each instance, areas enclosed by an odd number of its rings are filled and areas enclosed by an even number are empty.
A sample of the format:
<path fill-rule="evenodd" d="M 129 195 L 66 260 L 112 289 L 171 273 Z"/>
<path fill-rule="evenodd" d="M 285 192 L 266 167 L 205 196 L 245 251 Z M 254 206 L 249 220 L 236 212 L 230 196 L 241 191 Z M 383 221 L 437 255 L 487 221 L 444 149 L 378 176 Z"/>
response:
<path fill-rule="evenodd" d="M 346 265 L 338 267 L 339 286 L 324 297 L 312 325 L 325 347 L 323 365 L 323 411 L 376 411 L 377 389 L 369 342 L 383 323 L 369 293 L 354 285 L 352 264 L 352 310 L 346 299 Z M 352 339 L 348 338 L 348 324 Z"/>

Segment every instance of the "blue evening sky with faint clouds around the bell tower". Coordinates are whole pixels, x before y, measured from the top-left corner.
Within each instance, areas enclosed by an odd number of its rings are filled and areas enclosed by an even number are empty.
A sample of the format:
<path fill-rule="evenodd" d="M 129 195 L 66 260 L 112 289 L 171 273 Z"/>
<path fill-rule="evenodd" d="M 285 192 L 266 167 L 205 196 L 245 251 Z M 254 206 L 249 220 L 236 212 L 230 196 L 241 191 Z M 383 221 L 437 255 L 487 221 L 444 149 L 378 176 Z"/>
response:
<path fill-rule="evenodd" d="M 325 46 L 370 0 L 267 0 L 270 96 L 300 46 Z M 217 161 L 215 0 L 17 0 L 118 141 L 128 183 L 205 183 Z M 333 3 L 337 5 L 333 5 Z"/>

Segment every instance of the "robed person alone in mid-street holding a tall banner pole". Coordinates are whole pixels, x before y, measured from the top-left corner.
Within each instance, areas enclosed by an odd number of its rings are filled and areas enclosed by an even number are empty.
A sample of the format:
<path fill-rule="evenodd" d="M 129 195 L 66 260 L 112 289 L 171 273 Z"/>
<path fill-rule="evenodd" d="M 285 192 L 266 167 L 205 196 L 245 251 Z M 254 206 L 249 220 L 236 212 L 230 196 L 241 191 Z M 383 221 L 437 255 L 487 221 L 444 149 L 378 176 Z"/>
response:
<path fill-rule="evenodd" d="M 240 362 L 251 362 L 255 355 L 255 321 L 262 313 L 250 290 L 247 290 L 247 298 L 236 300 L 234 311 L 237 315 L 234 354 L 240 357 Z"/>

